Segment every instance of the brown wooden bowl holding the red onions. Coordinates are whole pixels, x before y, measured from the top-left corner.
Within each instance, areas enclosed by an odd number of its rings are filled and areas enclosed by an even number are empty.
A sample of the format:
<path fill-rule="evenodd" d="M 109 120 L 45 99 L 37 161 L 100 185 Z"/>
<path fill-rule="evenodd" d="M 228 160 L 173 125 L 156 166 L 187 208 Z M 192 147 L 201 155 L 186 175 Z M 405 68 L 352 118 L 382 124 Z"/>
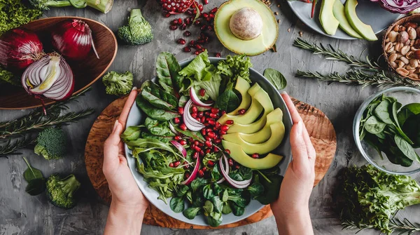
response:
<path fill-rule="evenodd" d="M 75 84 L 73 94 L 76 94 L 97 81 L 116 58 L 118 44 L 116 36 L 111 29 L 100 22 L 76 16 L 34 20 L 27 25 L 22 25 L 22 28 L 36 32 L 43 42 L 44 51 L 51 52 L 53 51 L 49 43 L 51 30 L 58 22 L 69 19 L 83 20 L 89 25 L 90 29 L 92 29 L 94 45 L 99 55 L 98 59 L 93 51 L 91 51 L 83 60 L 76 62 L 66 60 L 69 62 L 74 74 Z M 45 99 L 45 105 L 50 105 L 53 102 L 53 100 Z M 29 95 L 24 88 L 3 83 L 0 85 L 0 109 L 30 109 L 40 106 L 41 101 Z"/>

